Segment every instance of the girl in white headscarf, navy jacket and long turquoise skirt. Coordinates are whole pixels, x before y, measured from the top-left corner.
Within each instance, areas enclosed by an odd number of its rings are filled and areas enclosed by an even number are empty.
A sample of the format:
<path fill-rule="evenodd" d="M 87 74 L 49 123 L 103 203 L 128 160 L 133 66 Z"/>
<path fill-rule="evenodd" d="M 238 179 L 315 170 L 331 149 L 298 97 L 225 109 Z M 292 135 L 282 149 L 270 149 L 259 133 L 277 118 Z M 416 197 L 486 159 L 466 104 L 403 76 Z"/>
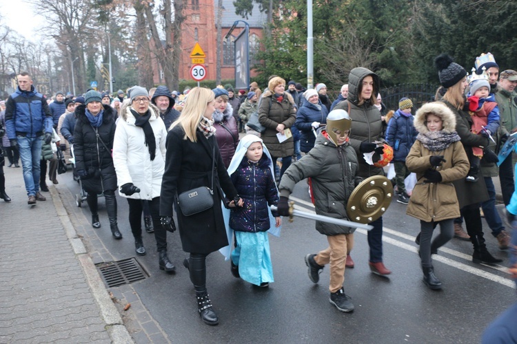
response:
<path fill-rule="evenodd" d="M 232 274 L 267 287 L 274 282 L 267 230 L 278 229 L 282 220 L 273 218 L 270 211 L 271 205 L 278 204 L 278 189 L 271 155 L 261 138 L 247 135 L 239 142 L 228 174 L 244 201 L 242 207 L 230 211 L 229 227 L 236 239 L 230 257 Z"/>

